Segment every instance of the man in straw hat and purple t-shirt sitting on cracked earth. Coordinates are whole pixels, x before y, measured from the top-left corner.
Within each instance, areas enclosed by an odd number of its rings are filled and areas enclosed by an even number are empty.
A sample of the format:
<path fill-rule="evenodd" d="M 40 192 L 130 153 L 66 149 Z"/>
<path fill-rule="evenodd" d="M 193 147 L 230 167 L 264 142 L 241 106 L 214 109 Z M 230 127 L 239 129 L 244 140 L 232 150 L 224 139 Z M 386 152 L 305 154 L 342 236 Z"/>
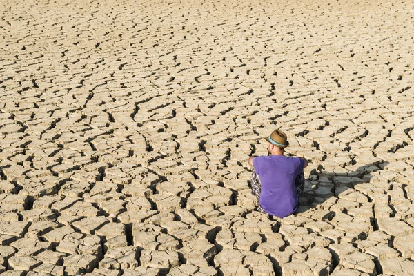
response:
<path fill-rule="evenodd" d="M 304 190 L 304 168 L 308 160 L 302 157 L 284 156 L 289 146 L 287 136 L 281 130 L 268 137 L 268 156 L 252 156 L 248 164 L 253 166 L 252 194 L 259 200 L 257 210 L 276 217 L 287 217 L 295 212 L 299 196 Z"/>

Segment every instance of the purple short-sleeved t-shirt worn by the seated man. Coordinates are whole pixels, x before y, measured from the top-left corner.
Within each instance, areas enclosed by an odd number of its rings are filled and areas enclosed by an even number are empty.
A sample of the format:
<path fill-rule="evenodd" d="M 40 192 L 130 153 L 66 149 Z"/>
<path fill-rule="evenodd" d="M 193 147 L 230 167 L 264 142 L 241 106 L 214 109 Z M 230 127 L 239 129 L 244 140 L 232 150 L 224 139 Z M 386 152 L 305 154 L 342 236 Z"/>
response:
<path fill-rule="evenodd" d="M 305 161 L 284 155 L 258 156 L 253 166 L 262 183 L 259 204 L 270 215 L 287 217 L 297 209 L 295 179 Z"/>

